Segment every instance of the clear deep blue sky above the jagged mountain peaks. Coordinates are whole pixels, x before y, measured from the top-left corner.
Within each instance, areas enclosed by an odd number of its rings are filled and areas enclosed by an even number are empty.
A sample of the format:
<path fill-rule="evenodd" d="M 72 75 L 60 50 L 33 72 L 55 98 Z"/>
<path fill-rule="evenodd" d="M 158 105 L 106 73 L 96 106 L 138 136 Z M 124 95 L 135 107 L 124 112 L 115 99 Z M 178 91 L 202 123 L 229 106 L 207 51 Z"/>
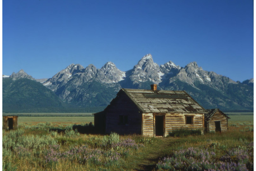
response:
<path fill-rule="evenodd" d="M 3 0 L 2 73 L 50 78 L 69 64 L 156 63 L 253 78 L 253 0 Z"/>

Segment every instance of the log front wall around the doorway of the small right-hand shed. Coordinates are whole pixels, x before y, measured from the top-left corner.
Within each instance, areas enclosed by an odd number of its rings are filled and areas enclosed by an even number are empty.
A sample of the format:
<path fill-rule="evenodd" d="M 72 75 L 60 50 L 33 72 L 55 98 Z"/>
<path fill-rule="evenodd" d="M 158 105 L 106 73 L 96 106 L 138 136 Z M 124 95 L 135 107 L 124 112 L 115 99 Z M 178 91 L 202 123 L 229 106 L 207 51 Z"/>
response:
<path fill-rule="evenodd" d="M 215 122 L 220 121 L 221 131 L 228 131 L 228 119 L 220 112 L 216 112 L 207 122 L 208 132 L 215 132 Z"/>

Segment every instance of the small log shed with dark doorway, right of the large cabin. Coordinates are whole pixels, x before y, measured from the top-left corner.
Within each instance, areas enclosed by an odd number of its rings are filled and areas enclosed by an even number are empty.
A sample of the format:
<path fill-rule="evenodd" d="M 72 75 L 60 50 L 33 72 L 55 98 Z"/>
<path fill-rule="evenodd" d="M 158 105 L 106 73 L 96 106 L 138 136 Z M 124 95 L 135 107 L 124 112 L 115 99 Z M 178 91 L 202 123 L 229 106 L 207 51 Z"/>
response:
<path fill-rule="evenodd" d="M 228 117 L 220 109 L 207 110 L 205 115 L 205 130 L 206 132 L 224 132 L 228 131 Z"/>

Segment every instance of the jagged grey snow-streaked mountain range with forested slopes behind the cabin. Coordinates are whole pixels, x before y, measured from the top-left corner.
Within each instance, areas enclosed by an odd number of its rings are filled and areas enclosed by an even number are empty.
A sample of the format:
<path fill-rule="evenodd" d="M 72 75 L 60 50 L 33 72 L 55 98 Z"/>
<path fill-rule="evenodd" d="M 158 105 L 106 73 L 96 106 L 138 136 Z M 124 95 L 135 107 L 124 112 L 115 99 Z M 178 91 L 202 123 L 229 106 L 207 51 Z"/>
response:
<path fill-rule="evenodd" d="M 23 70 L 10 77 L 34 80 Z M 71 64 L 52 78 L 37 81 L 52 90 L 63 102 L 79 107 L 107 106 L 121 88 L 150 89 L 150 84 L 155 83 L 159 89 L 185 90 L 205 108 L 254 108 L 253 79 L 235 82 L 203 70 L 196 62 L 184 68 L 172 61 L 159 66 L 154 63 L 151 54 L 144 56 L 132 70 L 126 72 L 119 70 L 112 62 L 100 69 L 92 64 L 86 68 Z"/>

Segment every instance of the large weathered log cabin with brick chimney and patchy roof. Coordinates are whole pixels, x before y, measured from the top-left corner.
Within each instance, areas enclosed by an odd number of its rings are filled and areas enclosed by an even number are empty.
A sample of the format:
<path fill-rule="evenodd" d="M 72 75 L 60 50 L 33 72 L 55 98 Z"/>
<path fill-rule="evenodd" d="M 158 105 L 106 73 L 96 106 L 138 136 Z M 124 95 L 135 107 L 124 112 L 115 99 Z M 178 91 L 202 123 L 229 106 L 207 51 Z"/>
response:
<path fill-rule="evenodd" d="M 138 134 L 165 137 L 179 129 L 204 129 L 201 107 L 185 91 L 121 89 L 103 111 L 94 114 L 100 133 Z"/>

